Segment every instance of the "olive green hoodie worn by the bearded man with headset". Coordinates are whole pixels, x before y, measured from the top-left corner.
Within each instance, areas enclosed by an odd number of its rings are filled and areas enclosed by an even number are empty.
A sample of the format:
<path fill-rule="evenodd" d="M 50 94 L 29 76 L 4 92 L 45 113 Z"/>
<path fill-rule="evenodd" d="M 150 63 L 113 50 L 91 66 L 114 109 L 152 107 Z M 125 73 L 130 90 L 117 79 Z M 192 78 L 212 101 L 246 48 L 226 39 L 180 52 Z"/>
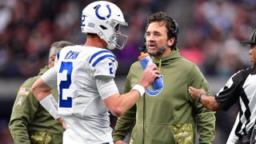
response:
<path fill-rule="evenodd" d="M 164 87 L 150 87 L 136 105 L 118 118 L 113 133 L 114 142 L 131 132 L 130 143 L 170 144 L 195 143 L 197 130 L 200 143 L 212 143 L 215 134 L 214 112 L 194 101 L 189 86 L 203 88 L 211 95 L 210 86 L 194 63 L 173 50 L 171 54 L 155 60 L 162 75 Z M 142 66 L 134 62 L 126 78 L 124 92 L 140 82 Z"/>

